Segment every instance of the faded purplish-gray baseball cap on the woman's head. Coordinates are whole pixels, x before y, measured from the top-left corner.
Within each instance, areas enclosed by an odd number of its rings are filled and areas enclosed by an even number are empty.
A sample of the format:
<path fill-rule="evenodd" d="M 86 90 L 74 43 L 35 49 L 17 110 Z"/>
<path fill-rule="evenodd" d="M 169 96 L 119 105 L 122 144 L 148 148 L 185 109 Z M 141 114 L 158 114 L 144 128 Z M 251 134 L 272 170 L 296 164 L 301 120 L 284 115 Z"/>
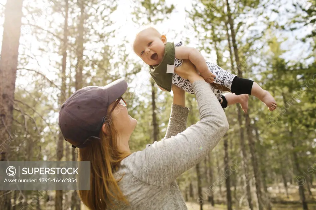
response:
<path fill-rule="evenodd" d="M 125 93 L 127 86 L 124 79 L 118 79 L 103 87 L 88 86 L 73 93 L 59 111 L 58 125 L 64 139 L 71 140 L 75 148 L 100 139 L 109 105 Z"/>

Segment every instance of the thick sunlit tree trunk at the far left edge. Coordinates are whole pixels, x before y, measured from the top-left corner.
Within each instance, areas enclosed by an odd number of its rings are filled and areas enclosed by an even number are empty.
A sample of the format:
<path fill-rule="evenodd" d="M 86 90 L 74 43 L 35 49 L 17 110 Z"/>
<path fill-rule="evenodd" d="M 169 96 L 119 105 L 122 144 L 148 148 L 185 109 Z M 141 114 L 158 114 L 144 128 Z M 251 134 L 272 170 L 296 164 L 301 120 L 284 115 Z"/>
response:
<path fill-rule="evenodd" d="M 6 140 L 11 134 L 13 103 L 20 45 L 23 0 L 7 1 L 4 11 L 3 38 L 0 59 L 0 161 L 9 160 Z M 0 206 L 10 209 L 11 194 L 0 191 Z"/>

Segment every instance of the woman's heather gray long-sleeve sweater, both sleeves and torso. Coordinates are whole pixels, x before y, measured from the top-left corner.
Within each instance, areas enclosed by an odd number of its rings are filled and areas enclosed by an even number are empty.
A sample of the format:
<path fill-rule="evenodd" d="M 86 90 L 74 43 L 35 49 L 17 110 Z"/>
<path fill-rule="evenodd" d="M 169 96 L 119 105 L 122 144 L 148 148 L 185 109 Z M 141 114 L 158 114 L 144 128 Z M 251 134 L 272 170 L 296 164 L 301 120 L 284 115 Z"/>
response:
<path fill-rule="evenodd" d="M 186 128 L 188 108 L 172 105 L 166 136 L 121 162 L 115 178 L 129 205 L 111 209 L 187 209 L 175 179 L 203 160 L 228 130 L 226 115 L 204 81 L 193 83 L 201 120 Z"/>

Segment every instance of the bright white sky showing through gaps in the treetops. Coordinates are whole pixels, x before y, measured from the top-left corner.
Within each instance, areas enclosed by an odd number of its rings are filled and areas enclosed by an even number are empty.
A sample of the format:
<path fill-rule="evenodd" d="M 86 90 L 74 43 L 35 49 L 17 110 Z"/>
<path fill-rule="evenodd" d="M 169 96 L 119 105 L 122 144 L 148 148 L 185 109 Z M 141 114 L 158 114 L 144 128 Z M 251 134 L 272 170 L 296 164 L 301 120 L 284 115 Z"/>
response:
<path fill-rule="evenodd" d="M 25 0 L 25 3 L 27 2 L 33 2 L 38 5 L 40 9 L 44 9 L 48 11 L 50 9 L 50 4 L 48 0 Z M 61 0 L 58 0 L 61 1 Z M 289 14 L 285 11 L 286 8 L 292 8 L 291 4 L 296 3 L 295 0 L 281 0 L 282 1 L 282 7 L 280 8 L 280 16 L 276 13 L 272 13 L 270 15 L 270 18 L 273 20 L 277 20 L 281 24 L 287 21 L 289 18 Z M 306 3 L 306 0 L 296 0 L 297 3 L 304 4 Z M 1 4 L 5 4 L 6 0 L 0 0 Z M 133 39 L 136 35 L 136 33 L 140 30 L 140 26 L 136 23 L 134 23 L 131 18 L 131 12 L 133 11 L 133 6 L 139 4 L 139 0 L 118 0 L 118 9 L 114 12 L 112 15 L 112 20 L 115 22 L 115 28 L 118 29 L 116 35 L 114 38 L 111 38 L 108 40 L 113 45 L 116 45 L 121 42 L 125 37 L 127 40 L 132 43 Z M 168 0 L 167 5 L 174 4 L 175 5 L 175 11 L 168 16 L 164 20 L 162 24 L 155 25 L 155 28 L 157 28 L 161 33 L 167 34 L 168 41 L 174 41 L 178 42 L 180 40 L 184 40 L 184 37 L 190 38 L 190 46 L 196 46 L 197 44 L 197 33 L 192 28 L 192 22 L 187 18 L 187 14 L 185 12 L 186 10 L 191 10 L 192 8 L 192 1 L 191 0 Z M 197 5 L 195 5 L 196 7 Z M 1 7 L 1 5 L 0 5 Z M 268 12 L 268 11 L 267 11 Z M 270 12 L 269 12 L 270 13 Z M 37 25 L 45 27 L 46 20 L 45 15 L 43 14 L 43 17 L 39 17 L 38 20 L 36 20 Z M 53 17 L 55 22 L 62 23 L 64 20 L 60 16 Z M 254 21 L 258 21 L 255 18 L 249 18 L 247 24 L 251 24 Z M 24 19 L 25 22 L 25 19 Z M 3 18 L 0 19 L 0 40 L 2 40 L 2 33 L 3 33 Z M 34 24 L 34 23 L 33 23 Z M 69 20 L 69 25 L 72 24 L 72 20 Z M 253 27 L 253 29 L 256 28 L 258 31 L 262 31 L 263 27 L 258 25 Z M 303 59 L 307 56 L 307 52 L 309 44 L 303 44 L 298 40 L 298 38 L 304 37 L 306 33 L 310 32 L 312 29 L 307 29 L 304 31 L 297 31 L 297 32 L 274 32 L 276 36 L 280 39 L 282 38 L 288 38 L 287 41 L 285 41 L 282 45 L 284 50 L 288 50 L 287 53 L 284 54 L 284 58 L 286 60 L 294 60 L 298 61 Z M 53 31 L 53 30 L 52 30 Z M 247 31 L 246 35 L 243 37 L 242 40 L 246 40 L 246 37 L 251 36 L 250 32 Z M 31 41 L 31 42 L 30 42 Z M 56 69 L 54 66 L 52 66 L 48 59 L 53 59 L 56 61 L 60 61 L 61 57 L 58 54 L 51 54 L 51 55 L 42 55 L 40 51 L 38 51 L 38 48 L 40 47 L 39 42 L 32 36 L 32 33 L 30 33 L 30 28 L 26 25 L 21 27 L 21 44 L 24 46 L 23 52 L 27 52 L 30 55 L 36 56 L 39 60 L 40 66 L 38 67 L 37 63 L 35 61 L 31 61 L 29 63 L 28 68 L 39 70 L 40 72 L 44 73 L 48 79 L 54 79 L 56 78 L 56 72 L 58 69 Z M 100 41 L 102 42 L 102 40 Z M 0 43 L 1 46 L 1 43 Z M 89 46 L 87 44 L 86 46 Z M 95 45 L 94 45 L 95 46 Z M 89 47 L 88 47 L 89 48 Z M 91 47 L 93 48 L 93 47 Z M 21 51 L 21 49 L 20 49 Z M 129 53 L 129 57 L 131 59 L 135 59 L 139 62 L 142 62 L 131 50 L 131 45 L 126 46 L 126 52 Z M 203 52 L 202 52 L 203 54 Z M 216 62 L 216 56 L 215 52 L 211 53 L 210 55 L 206 55 L 204 53 L 204 56 L 207 60 L 211 62 Z M 55 58 L 55 59 L 54 59 Z M 138 76 L 142 78 L 148 78 L 149 75 L 146 73 L 141 73 Z M 137 79 L 137 81 L 140 81 Z M 18 78 L 17 79 L 17 85 L 27 85 L 27 79 L 26 78 Z M 130 86 L 136 86 L 136 84 L 130 84 Z"/>

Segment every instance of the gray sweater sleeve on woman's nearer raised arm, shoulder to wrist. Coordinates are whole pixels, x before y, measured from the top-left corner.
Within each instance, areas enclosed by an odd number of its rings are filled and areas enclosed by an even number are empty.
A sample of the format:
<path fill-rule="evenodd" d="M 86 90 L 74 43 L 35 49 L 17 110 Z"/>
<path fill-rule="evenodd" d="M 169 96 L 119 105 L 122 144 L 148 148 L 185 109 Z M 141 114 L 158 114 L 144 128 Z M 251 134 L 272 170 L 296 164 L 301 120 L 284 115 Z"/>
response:
<path fill-rule="evenodd" d="M 143 182 L 157 186 L 170 184 L 203 160 L 228 130 L 226 115 L 210 84 L 196 73 L 190 80 L 201 120 L 178 135 L 155 142 L 130 156 L 135 158 L 132 173 Z"/>

